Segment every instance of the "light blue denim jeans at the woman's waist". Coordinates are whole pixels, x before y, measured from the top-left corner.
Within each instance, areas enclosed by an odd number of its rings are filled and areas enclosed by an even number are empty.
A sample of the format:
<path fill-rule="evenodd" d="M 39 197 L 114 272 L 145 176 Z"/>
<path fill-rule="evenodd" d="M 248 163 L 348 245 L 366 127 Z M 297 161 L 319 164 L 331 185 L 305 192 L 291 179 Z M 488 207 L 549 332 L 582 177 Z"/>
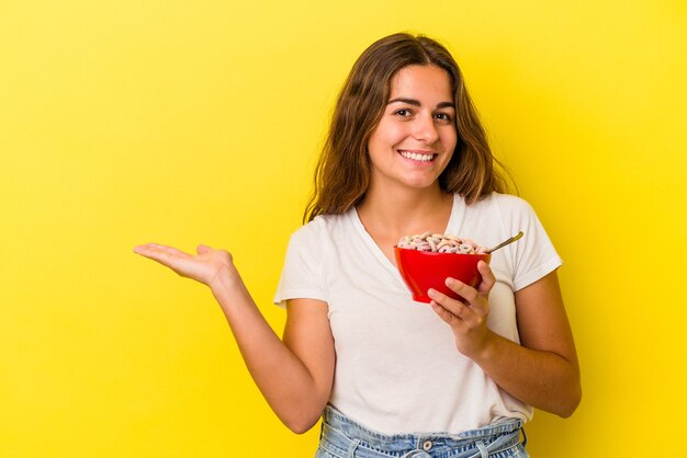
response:
<path fill-rule="evenodd" d="M 390 436 L 368 430 L 327 407 L 315 458 L 529 458 L 526 443 L 522 421 L 517 419 L 460 434 Z"/>

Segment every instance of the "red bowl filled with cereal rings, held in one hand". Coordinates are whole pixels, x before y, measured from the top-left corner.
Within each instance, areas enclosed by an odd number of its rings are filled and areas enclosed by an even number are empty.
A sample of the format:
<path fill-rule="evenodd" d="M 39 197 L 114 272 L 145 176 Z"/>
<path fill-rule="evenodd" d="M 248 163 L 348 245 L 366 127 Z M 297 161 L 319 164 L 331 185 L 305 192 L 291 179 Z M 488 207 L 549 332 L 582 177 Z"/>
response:
<path fill-rule="evenodd" d="M 407 285 L 413 300 L 429 304 L 427 290 L 433 288 L 444 295 L 462 301 L 462 298 L 446 286 L 448 277 L 457 278 L 475 287 L 482 282 L 477 262 L 488 264 L 491 254 L 437 253 L 430 251 L 407 250 L 394 247 L 396 266 Z"/>

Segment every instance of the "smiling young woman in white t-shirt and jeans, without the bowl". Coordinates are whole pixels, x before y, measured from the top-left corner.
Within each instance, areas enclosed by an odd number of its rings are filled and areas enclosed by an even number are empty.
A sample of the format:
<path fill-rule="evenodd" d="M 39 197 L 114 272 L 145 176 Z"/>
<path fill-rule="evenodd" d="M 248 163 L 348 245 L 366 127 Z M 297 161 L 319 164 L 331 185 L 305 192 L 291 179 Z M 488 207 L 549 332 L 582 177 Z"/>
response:
<path fill-rule="evenodd" d="M 579 370 L 556 279 L 561 264 L 531 207 L 505 182 L 462 75 L 437 42 L 372 44 L 339 95 L 275 301 L 280 340 L 228 252 L 135 251 L 210 286 L 246 365 L 296 433 L 323 420 L 318 457 L 527 457 L 532 408 L 568 416 Z M 465 304 L 414 302 L 393 247 L 425 231 L 494 245 Z"/>

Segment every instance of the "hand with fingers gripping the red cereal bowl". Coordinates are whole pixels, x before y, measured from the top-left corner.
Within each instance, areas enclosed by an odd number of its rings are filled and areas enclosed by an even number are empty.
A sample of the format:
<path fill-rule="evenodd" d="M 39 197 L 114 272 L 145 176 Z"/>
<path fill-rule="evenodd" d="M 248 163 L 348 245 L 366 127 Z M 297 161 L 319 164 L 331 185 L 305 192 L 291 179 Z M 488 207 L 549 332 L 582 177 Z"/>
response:
<path fill-rule="evenodd" d="M 455 278 L 447 278 L 446 285 L 460 297 L 458 299 L 429 289 L 428 295 L 435 312 L 446 321 L 455 335 L 455 347 L 463 355 L 475 359 L 488 347 L 494 333 L 486 327 L 489 314 L 489 291 L 496 283 L 494 273 L 484 261 L 477 263 L 477 271 L 482 275 L 482 282 L 473 288 Z"/>

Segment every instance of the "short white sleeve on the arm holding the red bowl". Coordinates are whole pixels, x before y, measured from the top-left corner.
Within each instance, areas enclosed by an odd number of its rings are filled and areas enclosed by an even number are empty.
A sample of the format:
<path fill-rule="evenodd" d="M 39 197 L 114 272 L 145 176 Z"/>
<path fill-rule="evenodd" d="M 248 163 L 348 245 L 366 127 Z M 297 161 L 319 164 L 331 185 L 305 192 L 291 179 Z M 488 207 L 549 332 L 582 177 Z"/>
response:
<path fill-rule="evenodd" d="M 560 267 L 562 260 L 530 204 L 520 197 L 504 197 L 499 205 L 504 224 L 513 234 L 525 232 L 510 245 L 513 285 L 517 291 Z"/>

